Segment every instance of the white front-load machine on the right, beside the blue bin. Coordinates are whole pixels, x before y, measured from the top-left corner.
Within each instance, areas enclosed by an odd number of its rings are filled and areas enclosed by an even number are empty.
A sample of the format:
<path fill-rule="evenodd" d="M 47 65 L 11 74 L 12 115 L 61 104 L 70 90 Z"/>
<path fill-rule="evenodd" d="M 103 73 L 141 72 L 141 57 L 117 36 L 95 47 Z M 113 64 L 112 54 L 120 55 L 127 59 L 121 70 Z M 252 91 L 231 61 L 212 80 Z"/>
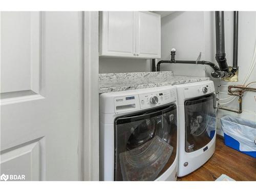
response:
<path fill-rule="evenodd" d="M 178 96 L 178 177 L 202 166 L 215 152 L 216 96 L 214 82 L 176 85 Z"/>

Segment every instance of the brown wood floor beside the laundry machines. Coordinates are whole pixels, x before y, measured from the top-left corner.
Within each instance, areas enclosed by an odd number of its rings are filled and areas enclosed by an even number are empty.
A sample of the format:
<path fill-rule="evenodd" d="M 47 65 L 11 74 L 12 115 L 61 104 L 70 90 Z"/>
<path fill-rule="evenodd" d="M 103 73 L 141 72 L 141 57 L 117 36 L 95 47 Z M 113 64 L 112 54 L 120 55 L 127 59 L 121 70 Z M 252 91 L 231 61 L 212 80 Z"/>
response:
<path fill-rule="evenodd" d="M 256 181 L 256 158 L 226 146 L 223 137 L 217 135 L 214 155 L 202 167 L 178 181 L 215 181 L 222 174 L 236 181 Z"/>

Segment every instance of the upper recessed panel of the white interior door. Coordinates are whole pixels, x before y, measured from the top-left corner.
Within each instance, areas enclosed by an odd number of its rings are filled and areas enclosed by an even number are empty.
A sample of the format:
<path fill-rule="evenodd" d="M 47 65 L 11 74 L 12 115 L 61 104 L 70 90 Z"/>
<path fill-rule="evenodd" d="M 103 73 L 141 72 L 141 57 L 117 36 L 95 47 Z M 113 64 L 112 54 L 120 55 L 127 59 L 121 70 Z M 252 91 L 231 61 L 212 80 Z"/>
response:
<path fill-rule="evenodd" d="M 1 93 L 39 91 L 39 12 L 1 13 Z"/>

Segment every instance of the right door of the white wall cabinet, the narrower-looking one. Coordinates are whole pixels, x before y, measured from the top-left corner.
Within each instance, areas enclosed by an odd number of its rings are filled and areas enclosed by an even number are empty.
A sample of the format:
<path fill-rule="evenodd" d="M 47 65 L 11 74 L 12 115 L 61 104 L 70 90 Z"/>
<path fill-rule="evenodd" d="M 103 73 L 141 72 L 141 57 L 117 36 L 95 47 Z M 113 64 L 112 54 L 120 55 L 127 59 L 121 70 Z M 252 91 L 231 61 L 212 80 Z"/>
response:
<path fill-rule="evenodd" d="M 152 12 L 136 12 L 137 57 L 161 57 L 161 17 Z"/>

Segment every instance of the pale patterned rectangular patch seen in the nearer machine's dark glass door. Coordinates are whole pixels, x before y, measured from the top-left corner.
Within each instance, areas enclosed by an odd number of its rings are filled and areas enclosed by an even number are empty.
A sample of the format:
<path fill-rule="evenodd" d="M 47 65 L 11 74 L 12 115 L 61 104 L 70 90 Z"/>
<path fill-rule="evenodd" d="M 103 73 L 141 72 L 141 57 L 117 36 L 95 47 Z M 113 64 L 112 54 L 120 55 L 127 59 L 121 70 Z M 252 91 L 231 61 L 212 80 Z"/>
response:
<path fill-rule="evenodd" d="M 153 181 L 172 155 L 173 146 L 155 136 L 138 148 L 119 154 L 124 181 Z"/>

